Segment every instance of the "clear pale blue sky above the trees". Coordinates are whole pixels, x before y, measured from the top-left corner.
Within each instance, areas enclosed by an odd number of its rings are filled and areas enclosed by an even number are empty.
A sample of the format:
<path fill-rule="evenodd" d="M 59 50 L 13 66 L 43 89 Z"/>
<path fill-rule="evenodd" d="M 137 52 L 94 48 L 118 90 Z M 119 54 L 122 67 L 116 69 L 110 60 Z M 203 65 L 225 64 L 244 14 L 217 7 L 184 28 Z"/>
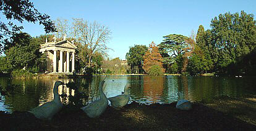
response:
<path fill-rule="evenodd" d="M 51 20 L 62 18 L 72 22 L 72 18 L 96 21 L 111 30 L 111 40 L 107 44 L 109 58 L 125 60 L 129 47 L 135 44 L 148 46 L 152 41 L 160 44 L 163 36 L 197 33 L 198 26 L 210 29 L 211 19 L 226 12 L 244 10 L 256 15 L 255 0 L 221 1 L 167 1 L 167 0 L 126 0 L 126 1 L 32 1 L 42 14 Z M 255 17 L 254 17 L 255 18 Z M 23 32 L 31 36 L 45 34 L 38 23 L 22 23 Z"/>

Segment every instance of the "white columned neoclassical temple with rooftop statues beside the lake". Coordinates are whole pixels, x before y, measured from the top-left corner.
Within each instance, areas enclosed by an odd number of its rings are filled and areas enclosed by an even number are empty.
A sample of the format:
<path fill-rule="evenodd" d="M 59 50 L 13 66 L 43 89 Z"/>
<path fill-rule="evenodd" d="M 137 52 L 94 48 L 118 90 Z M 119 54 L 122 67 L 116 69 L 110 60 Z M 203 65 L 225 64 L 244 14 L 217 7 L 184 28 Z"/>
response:
<path fill-rule="evenodd" d="M 40 44 L 40 52 L 47 55 L 47 71 L 53 73 L 72 73 L 75 71 L 75 49 L 74 41 L 69 42 L 66 38 L 63 41 L 48 42 Z M 70 68 L 71 67 L 71 68 Z"/>

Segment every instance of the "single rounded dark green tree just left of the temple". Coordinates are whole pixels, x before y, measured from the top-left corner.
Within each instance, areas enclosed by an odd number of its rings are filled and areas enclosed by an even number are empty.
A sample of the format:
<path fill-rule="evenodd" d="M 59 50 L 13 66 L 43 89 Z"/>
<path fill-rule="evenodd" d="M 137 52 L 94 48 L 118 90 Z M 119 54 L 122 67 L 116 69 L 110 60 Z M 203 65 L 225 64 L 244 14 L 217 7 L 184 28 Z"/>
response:
<path fill-rule="evenodd" d="M 32 38 L 27 33 L 14 34 L 11 38 L 9 44 L 12 46 L 6 49 L 6 60 L 9 68 L 22 69 L 25 66 L 33 72 L 38 72 L 46 57 L 39 52 L 40 38 Z"/>

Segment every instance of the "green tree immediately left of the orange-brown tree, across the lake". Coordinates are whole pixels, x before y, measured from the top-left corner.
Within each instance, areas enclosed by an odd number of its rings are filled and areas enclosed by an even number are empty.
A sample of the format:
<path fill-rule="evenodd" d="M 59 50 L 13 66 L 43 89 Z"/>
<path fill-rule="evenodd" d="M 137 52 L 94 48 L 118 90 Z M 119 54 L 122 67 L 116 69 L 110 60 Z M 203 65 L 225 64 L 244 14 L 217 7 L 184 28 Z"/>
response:
<path fill-rule="evenodd" d="M 136 66 L 139 68 L 139 73 L 143 73 L 143 55 L 145 55 L 147 50 L 148 47 L 143 45 L 135 45 L 134 47 L 130 47 L 129 52 L 126 55 L 126 60 L 132 73 L 136 73 Z"/>

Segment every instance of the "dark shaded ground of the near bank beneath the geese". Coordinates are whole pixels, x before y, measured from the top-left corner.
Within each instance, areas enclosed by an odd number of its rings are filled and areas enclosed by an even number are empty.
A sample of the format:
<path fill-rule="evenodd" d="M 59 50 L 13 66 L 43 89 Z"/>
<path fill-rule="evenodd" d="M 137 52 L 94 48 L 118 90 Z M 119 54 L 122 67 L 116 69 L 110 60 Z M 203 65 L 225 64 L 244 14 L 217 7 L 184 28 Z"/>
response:
<path fill-rule="evenodd" d="M 80 109 L 64 108 L 51 121 L 28 113 L 0 113 L 0 130 L 256 130 L 255 104 L 254 98 L 223 98 L 181 111 L 176 103 L 131 103 L 119 111 L 108 107 L 97 119 Z"/>

